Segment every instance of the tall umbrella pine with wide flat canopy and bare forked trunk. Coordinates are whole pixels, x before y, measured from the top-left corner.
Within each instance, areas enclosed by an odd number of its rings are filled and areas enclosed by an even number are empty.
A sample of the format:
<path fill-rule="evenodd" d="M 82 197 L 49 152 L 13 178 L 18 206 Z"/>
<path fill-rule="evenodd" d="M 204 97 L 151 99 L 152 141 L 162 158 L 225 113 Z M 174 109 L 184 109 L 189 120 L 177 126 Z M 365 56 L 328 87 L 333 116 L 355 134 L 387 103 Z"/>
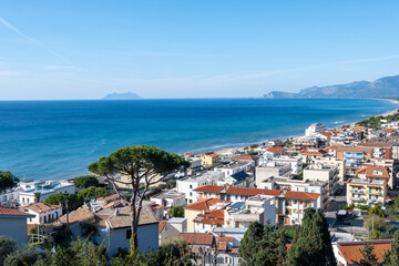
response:
<path fill-rule="evenodd" d="M 143 200 L 150 186 L 161 182 L 167 174 L 188 166 L 190 163 L 184 157 L 147 145 L 119 149 L 89 166 L 90 172 L 105 176 L 112 183 L 113 188 L 123 200 L 124 204 L 131 208 L 131 254 L 139 248 L 139 218 Z M 122 182 L 117 178 L 120 175 L 129 176 L 129 182 Z M 140 190 L 141 183 L 144 183 L 144 190 Z M 132 195 L 129 201 L 122 196 L 119 184 L 132 187 Z"/>

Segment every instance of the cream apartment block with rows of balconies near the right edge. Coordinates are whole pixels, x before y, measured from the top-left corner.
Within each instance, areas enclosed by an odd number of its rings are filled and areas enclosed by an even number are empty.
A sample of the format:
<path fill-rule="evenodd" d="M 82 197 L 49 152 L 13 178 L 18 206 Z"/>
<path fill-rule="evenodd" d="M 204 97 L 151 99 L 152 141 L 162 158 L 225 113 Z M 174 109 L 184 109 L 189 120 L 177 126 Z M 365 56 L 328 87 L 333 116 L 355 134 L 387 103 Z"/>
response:
<path fill-rule="evenodd" d="M 347 181 L 347 204 L 385 206 L 387 181 L 352 178 Z"/>

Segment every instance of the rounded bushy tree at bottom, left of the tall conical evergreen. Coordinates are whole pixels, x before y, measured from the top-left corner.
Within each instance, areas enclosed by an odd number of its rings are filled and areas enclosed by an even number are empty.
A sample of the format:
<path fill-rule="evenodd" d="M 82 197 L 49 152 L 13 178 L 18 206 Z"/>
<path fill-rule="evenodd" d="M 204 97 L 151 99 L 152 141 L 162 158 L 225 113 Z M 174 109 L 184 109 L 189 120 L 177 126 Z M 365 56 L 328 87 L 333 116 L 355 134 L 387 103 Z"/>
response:
<path fill-rule="evenodd" d="M 286 258 L 288 235 L 272 225 L 252 223 L 244 234 L 238 248 L 242 265 L 283 265 Z"/>

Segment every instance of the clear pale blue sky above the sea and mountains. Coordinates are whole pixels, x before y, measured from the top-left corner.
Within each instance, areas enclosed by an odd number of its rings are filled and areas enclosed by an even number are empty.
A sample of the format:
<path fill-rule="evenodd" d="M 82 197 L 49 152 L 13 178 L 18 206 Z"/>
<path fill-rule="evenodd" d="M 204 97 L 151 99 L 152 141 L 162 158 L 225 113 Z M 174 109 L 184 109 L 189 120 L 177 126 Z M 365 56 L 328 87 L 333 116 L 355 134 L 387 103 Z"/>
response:
<path fill-rule="evenodd" d="M 399 74 L 399 1 L 3 0 L 0 100 L 258 98 Z"/>

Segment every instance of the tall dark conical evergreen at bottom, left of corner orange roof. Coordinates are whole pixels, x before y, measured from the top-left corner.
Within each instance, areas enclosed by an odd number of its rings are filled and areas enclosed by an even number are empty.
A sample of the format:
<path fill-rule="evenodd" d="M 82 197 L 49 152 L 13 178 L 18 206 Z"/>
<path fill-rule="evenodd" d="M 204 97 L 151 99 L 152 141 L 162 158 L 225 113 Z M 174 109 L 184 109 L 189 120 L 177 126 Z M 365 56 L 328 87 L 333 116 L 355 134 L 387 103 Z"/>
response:
<path fill-rule="evenodd" d="M 305 209 L 303 225 L 297 231 L 287 255 L 287 265 L 337 265 L 328 224 L 321 209 Z"/>

